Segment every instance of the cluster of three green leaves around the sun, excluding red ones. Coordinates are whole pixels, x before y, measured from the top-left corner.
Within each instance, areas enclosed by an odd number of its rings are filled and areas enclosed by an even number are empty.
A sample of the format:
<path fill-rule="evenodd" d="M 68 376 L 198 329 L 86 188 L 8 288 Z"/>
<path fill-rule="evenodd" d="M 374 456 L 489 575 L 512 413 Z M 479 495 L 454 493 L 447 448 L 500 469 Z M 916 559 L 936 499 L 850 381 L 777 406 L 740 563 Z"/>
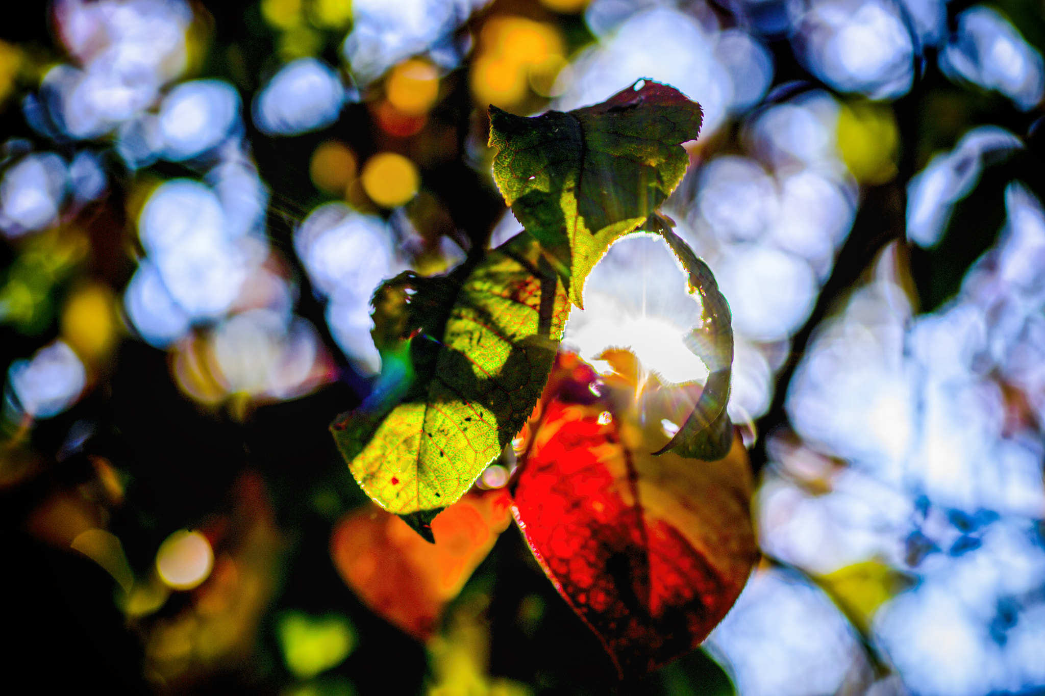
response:
<path fill-rule="evenodd" d="M 661 449 L 720 459 L 733 362 L 729 309 L 706 265 L 656 211 L 689 165 L 701 110 L 637 80 L 601 104 L 527 118 L 490 107 L 494 179 L 525 232 L 449 274 L 408 272 L 373 297 L 382 373 L 331 427 L 363 489 L 428 541 L 431 522 L 516 436 L 537 403 L 572 305 L 609 246 L 665 238 L 703 306 L 688 338 L 712 368 L 693 413 Z"/>

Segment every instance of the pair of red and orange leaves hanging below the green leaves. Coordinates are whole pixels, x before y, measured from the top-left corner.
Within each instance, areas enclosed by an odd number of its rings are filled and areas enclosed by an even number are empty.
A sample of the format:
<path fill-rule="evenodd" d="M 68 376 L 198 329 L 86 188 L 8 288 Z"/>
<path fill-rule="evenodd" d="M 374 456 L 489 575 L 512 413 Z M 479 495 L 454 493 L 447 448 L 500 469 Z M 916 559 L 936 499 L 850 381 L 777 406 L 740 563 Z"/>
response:
<path fill-rule="evenodd" d="M 419 639 L 513 514 L 555 589 L 598 635 L 622 678 L 694 649 L 736 601 L 758 557 L 752 481 L 739 435 L 719 461 L 652 453 L 694 406 L 626 352 L 600 376 L 560 353 L 515 447 L 508 489 L 473 489 L 432 521 L 435 543 L 375 506 L 331 538 L 342 577 L 373 610 Z M 510 510 L 510 512 L 509 512 Z"/>

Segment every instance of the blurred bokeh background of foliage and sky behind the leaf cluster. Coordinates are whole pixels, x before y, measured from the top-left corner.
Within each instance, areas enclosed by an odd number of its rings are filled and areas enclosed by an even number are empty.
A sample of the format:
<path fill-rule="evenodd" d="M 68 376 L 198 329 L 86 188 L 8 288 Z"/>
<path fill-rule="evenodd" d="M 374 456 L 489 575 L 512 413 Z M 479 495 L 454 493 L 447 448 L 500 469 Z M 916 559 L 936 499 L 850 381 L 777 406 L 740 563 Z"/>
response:
<path fill-rule="evenodd" d="M 1045 693 L 1043 48 L 1038 0 L 29 3 L 0 27 L 5 678 Z M 486 105 L 643 76 L 704 110 L 666 211 L 733 308 L 765 560 L 704 650 L 616 687 L 515 530 L 428 643 L 368 608 L 327 424 L 379 368 L 377 283 L 519 230 Z M 574 350 L 703 379 L 659 241 L 587 287 Z"/>

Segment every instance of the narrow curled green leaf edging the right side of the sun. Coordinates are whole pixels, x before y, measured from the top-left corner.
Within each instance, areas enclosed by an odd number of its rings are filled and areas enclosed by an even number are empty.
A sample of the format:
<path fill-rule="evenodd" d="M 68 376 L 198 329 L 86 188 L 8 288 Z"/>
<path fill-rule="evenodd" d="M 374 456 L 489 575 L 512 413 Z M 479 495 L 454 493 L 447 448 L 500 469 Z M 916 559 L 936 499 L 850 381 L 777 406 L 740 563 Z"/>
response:
<path fill-rule="evenodd" d="M 645 231 L 665 238 L 689 273 L 689 291 L 700 297 L 701 325 L 695 327 L 684 340 L 687 346 L 707 365 L 709 375 L 693 413 L 675 436 L 654 454 L 674 452 L 682 457 L 715 461 L 728 454 L 733 445 L 733 422 L 726 412 L 733 375 L 733 315 L 729 304 L 719 292 L 712 269 L 671 227 L 669 219 L 655 213 L 644 225 Z"/>

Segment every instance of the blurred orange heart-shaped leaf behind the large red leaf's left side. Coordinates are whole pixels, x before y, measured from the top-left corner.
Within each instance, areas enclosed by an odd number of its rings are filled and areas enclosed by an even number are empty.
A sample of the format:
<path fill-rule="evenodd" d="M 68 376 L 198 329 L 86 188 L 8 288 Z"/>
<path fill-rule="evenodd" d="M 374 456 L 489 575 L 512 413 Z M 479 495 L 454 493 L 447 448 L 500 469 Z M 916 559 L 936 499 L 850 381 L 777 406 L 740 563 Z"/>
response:
<path fill-rule="evenodd" d="M 405 522 L 367 505 L 334 527 L 330 555 L 345 583 L 371 609 L 426 641 L 446 603 L 511 523 L 506 490 L 464 496 L 432 521 L 434 544 Z"/>

